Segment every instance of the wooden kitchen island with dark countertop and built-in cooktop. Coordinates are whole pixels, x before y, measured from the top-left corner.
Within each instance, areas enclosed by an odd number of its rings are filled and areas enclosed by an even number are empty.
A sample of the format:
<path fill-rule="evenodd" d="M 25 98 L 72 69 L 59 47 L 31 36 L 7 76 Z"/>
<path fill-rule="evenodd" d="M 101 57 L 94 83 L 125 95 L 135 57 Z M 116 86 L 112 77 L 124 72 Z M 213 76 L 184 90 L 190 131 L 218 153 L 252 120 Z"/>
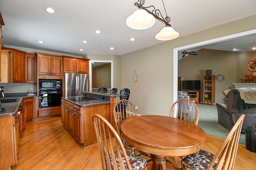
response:
<path fill-rule="evenodd" d="M 83 92 L 82 96 L 61 99 L 61 121 L 68 132 L 83 146 L 97 143 L 92 115 L 100 114 L 113 126 L 115 98 L 119 94 Z"/>

